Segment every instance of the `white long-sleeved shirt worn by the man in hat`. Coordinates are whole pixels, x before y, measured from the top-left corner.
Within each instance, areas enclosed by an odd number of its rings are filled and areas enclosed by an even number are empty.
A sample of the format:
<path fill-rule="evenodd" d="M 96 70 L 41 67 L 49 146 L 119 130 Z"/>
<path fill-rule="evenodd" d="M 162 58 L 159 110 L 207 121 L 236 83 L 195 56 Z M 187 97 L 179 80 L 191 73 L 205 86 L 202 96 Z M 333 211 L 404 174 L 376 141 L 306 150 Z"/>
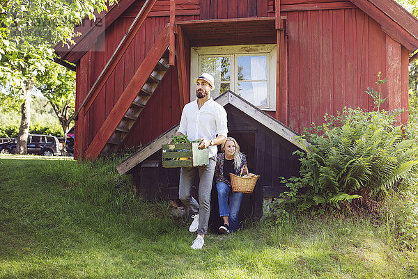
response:
<path fill-rule="evenodd" d="M 212 98 L 201 106 L 197 104 L 197 99 L 189 102 L 183 108 L 181 113 L 180 127 L 178 131 L 187 135 L 190 141 L 199 138 L 208 140 L 216 138 L 216 136 L 224 136 L 228 134 L 228 125 L 226 119 L 226 111 L 223 106 L 215 102 Z M 209 147 L 209 157 L 217 154 L 217 147 Z"/>

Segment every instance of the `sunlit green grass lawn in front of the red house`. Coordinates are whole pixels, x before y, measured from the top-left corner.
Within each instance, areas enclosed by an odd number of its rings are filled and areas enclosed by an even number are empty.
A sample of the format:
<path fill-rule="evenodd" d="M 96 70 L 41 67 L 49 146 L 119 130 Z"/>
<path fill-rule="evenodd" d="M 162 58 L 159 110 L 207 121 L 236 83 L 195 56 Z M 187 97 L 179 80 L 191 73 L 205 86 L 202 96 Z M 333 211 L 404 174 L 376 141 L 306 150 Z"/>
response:
<path fill-rule="evenodd" d="M 418 278 L 417 251 L 359 214 L 247 222 L 202 250 L 116 161 L 0 157 L 0 278 Z"/>

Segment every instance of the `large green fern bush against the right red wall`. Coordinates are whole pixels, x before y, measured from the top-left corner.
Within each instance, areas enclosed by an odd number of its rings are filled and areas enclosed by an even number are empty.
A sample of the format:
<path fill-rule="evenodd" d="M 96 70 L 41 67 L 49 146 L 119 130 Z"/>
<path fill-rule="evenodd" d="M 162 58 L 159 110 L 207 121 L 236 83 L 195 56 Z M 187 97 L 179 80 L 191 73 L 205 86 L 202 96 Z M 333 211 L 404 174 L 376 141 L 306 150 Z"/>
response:
<path fill-rule="evenodd" d="M 344 108 L 307 131 L 311 145 L 300 155 L 300 177 L 283 180 L 287 202 L 298 209 L 339 208 L 356 198 L 380 200 L 389 190 L 418 182 L 418 148 L 397 113 Z M 303 189 L 303 191 L 300 191 Z"/>

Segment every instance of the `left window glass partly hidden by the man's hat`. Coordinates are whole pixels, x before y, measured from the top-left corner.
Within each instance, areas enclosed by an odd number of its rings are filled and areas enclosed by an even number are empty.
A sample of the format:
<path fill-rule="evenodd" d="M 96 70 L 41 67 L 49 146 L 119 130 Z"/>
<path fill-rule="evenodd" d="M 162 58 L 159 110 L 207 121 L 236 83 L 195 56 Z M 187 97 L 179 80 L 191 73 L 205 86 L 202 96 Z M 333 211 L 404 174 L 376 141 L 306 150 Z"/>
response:
<path fill-rule="evenodd" d="M 231 61 L 229 56 L 201 57 L 201 69 L 201 72 L 212 74 L 215 79 L 215 90 L 210 94 L 213 98 L 219 96 L 219 93 L 224 93 L 225 88 L 229 89 L 229 82 L 231 81 Z"/>

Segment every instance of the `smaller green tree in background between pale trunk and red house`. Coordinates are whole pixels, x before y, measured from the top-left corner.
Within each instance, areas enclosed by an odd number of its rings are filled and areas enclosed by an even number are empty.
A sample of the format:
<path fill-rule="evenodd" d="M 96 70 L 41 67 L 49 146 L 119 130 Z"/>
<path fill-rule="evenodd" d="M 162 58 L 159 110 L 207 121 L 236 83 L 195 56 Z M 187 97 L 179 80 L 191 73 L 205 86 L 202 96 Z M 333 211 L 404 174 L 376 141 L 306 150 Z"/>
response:
<path fill-rule="evenodd" d="M 36 87 L 48 99 L 65 134 L 75 112 L 75 72 L 53 65 L 38 75 Z"/>

